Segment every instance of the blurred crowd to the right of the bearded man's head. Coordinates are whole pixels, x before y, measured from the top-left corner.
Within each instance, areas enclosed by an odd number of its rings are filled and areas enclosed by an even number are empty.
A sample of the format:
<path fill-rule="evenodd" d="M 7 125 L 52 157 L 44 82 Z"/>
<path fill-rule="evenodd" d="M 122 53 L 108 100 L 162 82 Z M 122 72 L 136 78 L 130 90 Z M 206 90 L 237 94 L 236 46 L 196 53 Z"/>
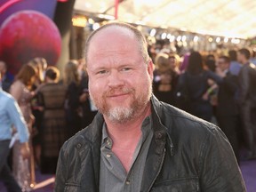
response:
<path fill-rule="evenodd" d="M 191 51 L 180 58 L 164 48 L 153 49 L 151 56 L 158 100 L 219 125 L 238 163 L 256 158 L 255 52 L 247 48 L 227 54 Z"/>

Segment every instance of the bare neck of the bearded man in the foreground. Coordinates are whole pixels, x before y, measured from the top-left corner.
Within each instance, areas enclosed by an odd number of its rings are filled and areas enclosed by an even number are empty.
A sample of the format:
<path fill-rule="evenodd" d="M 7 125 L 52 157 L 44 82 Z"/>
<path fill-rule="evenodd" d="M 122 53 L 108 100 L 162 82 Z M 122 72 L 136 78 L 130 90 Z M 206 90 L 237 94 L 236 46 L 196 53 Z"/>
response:
<path fill-rule="evenodd" d="M 105 117 L 105 122 L 108 127 L 108 134 L 114 143 L 124 143 L 124 140 L 133 140 L 134 137 L 141 136 L 141 125 L 144 119 L 151 114 L 150 103 L 140 112 L 140 116 L 132 119 L 127 123 L 117 124 Z"/>

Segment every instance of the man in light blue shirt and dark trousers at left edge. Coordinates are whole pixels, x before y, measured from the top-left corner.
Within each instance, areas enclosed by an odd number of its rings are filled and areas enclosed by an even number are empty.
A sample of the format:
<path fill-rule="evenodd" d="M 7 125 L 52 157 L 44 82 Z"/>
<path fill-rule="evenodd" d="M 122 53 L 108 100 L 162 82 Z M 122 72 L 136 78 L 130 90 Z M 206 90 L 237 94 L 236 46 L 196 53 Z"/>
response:
<path fill-rule="evenodd" d="M 0 73 L 1 82 L 1 73 Z M 15 125 L 20 142 L 23 143 L 21 147 L 21 155 L 24 158 L 29 157 L 28 148 L 28 127 L 17 102 L 10 94 L 4 92 L 0 87 L 0 180 L 4 182 L 8 191 L 21 192 L 21 188 L 14 180 L 12 172 L 7 164 L 7 156 L 9 154 L 10 141 L 12 139 L 12 125 Z"/>

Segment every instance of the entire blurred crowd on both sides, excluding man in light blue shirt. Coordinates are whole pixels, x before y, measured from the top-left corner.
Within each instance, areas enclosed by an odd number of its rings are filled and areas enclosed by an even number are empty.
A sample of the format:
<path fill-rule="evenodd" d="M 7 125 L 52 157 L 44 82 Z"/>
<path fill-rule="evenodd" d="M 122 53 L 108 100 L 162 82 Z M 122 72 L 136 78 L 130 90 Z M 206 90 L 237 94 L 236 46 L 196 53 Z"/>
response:
<path fill-rule="evenodd" d="M 238 162 L 256 158 L 256 63 L 251 50 L 178 55 L 150 47 L 148 52 L 156 67 L 153 92 L 158 100 L 218 124 Z M 68 61 L 63 74 L 44 58 L 29 60 L 16 76 L 0 61 L 0 72 L 3 90 L 17 100 L 30 133 L 30 158 L 24 159 L 13 126 L 16 141 L 9 159 L 15 179 L 29 191 L 36 182 L 35 169 L 54 174 L 60 147 L 92 122 L 97 108 L 90 99 L 84 60 Z M 239 155 L 242 146 L 245 156 Z"/>

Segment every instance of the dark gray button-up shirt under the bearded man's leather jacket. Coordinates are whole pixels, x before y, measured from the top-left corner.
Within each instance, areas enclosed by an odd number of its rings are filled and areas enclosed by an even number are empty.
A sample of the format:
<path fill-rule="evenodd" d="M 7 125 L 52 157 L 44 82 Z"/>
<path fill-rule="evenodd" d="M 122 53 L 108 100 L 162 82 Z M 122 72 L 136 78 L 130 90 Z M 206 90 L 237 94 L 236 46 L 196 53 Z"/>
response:
<path fill-rule="evenodd" d="M 153 137 L 151 116 L 143 121 L 141 132 L 142 136 L 135 148 L 131 169 L 127 173 L 124 165 L 112 152 L 113 141 L 108 136 L 106 124 L 103 125 L 100 148 L 100 192 L 140 191 L 148 148 Z"/>

